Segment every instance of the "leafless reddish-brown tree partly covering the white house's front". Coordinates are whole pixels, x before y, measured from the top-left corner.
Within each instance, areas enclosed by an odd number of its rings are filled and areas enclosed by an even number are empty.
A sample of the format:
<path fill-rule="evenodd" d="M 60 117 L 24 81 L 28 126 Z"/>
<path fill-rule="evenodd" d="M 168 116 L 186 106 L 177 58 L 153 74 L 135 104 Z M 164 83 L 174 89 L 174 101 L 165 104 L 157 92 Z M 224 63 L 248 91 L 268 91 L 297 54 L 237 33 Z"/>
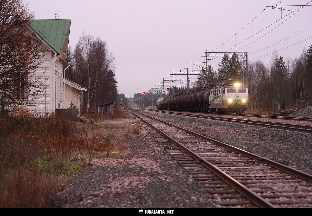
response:
<path fill-rule="evenodd" d="M 41 39 L 29 30 L 34 15 L 26 3 L 0 0 L 0 14 L 0 105 L 15 111 L 44 94 L 44 72 L 34 71 L 45 54 Z"/>

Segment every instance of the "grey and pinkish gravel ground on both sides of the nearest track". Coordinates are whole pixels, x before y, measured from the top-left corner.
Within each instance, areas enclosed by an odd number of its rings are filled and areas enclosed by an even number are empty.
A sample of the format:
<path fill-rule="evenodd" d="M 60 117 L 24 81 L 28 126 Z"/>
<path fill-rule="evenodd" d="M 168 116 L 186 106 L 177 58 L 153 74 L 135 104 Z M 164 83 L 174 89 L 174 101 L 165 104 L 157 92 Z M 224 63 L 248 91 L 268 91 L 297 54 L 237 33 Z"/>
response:
<path fill-rule="evenodd" d="M 311 134 L 144 112 L 312 174 Z M 95 159 L 88 169 L 71 176 L 58 194 L 59 207 L 219 208 L 212 194 L 199 187 L 142 125 L 142 132 L 127 140 L 130 154 Z"/>

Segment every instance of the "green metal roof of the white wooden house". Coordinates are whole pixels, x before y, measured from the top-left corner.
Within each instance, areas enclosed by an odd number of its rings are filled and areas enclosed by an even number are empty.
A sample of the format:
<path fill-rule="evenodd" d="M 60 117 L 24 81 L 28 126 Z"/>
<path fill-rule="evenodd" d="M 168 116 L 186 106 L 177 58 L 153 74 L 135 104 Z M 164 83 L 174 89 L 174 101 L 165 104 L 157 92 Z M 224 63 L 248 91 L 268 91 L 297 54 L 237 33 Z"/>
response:
<path fill-rule="evenodd" d="M 30 27 L 39 34 L 58 54 L 62 53 L 71 20 L 45 19 L 31 20 Z"/>

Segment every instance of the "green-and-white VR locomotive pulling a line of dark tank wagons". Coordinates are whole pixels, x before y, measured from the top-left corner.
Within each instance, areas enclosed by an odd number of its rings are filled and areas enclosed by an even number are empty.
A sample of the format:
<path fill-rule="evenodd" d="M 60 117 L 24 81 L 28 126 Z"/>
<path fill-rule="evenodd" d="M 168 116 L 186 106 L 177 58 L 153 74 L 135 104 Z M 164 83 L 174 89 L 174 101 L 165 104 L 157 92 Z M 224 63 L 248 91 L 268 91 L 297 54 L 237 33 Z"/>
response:
<path fill-rule="evenodd" d="M 212 113 L 244 113 L 248 110 L 248 87 L 239 83 L 222 82 L 217 86 L 199 89 L 174 97 L 160 97 L 158 110 L 177 110 Z"/>

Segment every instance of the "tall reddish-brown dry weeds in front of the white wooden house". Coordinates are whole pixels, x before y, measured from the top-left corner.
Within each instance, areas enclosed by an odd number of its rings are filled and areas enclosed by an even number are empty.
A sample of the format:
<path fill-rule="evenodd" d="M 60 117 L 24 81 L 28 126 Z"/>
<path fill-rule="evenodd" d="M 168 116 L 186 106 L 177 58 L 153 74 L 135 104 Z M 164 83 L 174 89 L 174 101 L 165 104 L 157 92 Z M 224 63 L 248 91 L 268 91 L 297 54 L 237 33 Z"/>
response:
<path fill-rule="evenodd" d="M 85 126 L 54 115 L 0 120 L 0 208 L 56 207 L 60 176 L 90 157 Z"/>

